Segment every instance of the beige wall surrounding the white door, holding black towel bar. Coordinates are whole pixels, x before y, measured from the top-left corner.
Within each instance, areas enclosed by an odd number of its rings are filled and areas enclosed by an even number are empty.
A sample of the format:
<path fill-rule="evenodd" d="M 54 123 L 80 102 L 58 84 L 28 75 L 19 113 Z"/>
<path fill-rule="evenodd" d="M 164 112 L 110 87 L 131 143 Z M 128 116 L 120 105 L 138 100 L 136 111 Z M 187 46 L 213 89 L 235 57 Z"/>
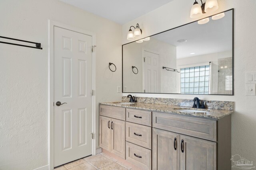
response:
<path fill-rule="evenodd" d="M 96 35 L 98 103 L 120 100 L 121 25 L 58 0 L 1 0 L 0 35 L 42 43 L 43 50 L 0 44 L 0 169 L 31 170 L 48 162 L 48 20 Z M 117 66 L 116 72 L 108 63 Z"/>

